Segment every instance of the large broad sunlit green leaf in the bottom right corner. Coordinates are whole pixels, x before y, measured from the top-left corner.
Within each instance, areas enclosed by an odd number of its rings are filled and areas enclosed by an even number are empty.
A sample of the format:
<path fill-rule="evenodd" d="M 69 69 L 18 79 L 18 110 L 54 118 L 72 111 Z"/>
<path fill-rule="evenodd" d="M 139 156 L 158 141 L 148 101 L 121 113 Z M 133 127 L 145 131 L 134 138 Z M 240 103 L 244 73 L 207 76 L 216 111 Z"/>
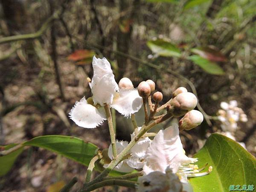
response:
<path fill-rule="evenodd" d="M 195 157 L 198 166 L 208 163 L 213 169 L 189 180 L 194 192 L 228 192 L 230 185 L 255 185 L 255 157 L 228 137 L 212 134 Z"/>

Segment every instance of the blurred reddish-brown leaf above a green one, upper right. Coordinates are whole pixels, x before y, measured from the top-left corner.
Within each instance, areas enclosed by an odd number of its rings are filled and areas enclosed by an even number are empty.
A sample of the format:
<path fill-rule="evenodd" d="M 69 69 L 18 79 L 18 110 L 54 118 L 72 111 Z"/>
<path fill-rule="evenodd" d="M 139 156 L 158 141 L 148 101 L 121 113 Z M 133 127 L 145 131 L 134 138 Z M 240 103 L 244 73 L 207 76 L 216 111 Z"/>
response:
<path fill-rule="evenodd" d="M 220 51 L 216 49 L 212 49 L 210 47 L 197 47 L 191 49 L 191 52 L 200 55 L 202 58 L 205 58 L 209 61 L 216 61 L 216 62 L 225 62 L 227 58 L 221 54 Z"/>

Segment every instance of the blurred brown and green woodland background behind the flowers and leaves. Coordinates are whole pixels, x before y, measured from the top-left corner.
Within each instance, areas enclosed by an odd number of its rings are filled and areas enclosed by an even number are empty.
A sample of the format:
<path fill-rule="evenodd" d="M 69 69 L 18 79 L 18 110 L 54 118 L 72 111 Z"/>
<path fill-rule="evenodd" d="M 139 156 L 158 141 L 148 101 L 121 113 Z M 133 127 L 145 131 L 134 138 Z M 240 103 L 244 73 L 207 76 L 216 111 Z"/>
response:
<path fill-rule="evenodd" d="M 205 121 L 180 133 L 188 154 L 220 130 L 220 102 L 237 100 L 248 122 L 236 138 L 255 155 L 255 10 L 255 0 L 0 0 L 0 144 L 62 134 L 108 147 L 106 124 L 81 129 L 68 119 L 75 101 L 91 96 L 97 55 L 117 82 L 155 81 L 164 102 L 181 86 L 197 94 Z M 115 117 L 117 138 L 129 140 L 130 119 Z M 84 179 L 81 165 L 31 148 L 0 190 L 54 191 L 74 173 Z"/>

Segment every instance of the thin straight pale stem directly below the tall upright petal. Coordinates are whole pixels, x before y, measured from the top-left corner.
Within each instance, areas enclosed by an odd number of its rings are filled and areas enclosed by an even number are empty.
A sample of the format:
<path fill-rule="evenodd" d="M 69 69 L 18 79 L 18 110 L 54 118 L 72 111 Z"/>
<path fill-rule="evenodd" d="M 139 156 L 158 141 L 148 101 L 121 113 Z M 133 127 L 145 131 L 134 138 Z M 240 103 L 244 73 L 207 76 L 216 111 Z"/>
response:
<path fill-rule="evenodd" d="M 104 105 L 107 118 L 108 118 L 108 128 L 109 128 L 109 133 L 110 133 L 110 139 L 111 139 L 111 145 L 112 145 L 112 150 L 113 150 L 113 156 L 116 158 L 117 156 L 117 151 L 116 151 L 116 134 L 114 131 L 113 127 L 113 122 L 112 122 L 112 116 L 111 116 L 111 111 L 109 105 Z"/>

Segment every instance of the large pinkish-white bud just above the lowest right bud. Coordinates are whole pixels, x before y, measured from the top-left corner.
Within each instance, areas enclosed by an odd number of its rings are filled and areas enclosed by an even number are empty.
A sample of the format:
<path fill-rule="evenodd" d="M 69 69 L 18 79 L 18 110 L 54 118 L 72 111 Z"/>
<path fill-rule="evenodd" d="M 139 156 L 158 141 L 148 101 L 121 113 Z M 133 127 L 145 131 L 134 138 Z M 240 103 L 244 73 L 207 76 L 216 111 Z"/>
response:
<path fill-rule="evenodd" d="M 170 102 L 170 107 L 167 109 L 168 113 L 173 116 L 182 116 L 188 111 L 191 111 L 197 105 L 197 98 L 193 93 L 185 92 L 178 94 Z"/>

